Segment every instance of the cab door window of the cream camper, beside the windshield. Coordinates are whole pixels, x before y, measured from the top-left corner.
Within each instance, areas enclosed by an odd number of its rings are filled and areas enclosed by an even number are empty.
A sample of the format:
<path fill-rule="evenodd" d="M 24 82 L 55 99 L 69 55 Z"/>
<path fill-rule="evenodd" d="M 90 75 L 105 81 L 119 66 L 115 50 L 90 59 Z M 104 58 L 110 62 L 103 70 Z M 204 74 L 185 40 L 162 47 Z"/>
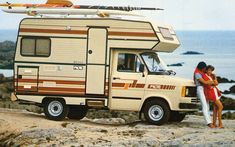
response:
<path fill-rule="evenodd" d="M 135 54 L 118 54 L 118 66 L 119 72 L 139 72 L 139 66 L 141 62 Z"/>

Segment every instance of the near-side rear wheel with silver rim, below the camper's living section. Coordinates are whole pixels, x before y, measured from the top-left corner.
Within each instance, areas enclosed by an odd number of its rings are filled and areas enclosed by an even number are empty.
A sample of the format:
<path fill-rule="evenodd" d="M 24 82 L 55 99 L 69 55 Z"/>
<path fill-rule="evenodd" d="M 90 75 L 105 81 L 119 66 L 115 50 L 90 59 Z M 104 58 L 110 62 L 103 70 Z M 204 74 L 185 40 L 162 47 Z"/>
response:
<path fill-rule="evenodd" d="M 63 99 L 47 99 L 44 102 L 44 113 L 50 120 L 63 120 L 68 115 L 68 110 Z"/>

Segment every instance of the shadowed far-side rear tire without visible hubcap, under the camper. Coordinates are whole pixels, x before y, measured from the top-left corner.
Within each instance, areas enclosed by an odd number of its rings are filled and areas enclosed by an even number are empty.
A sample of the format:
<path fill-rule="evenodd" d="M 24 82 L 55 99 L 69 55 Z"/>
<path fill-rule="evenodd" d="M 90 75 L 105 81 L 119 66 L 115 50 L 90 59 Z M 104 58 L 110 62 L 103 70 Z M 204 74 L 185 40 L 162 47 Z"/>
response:
<path fill-rule="evenodd" d="M 88 108 L 87 106 L 70 106 L 68 118 L 80 120 L 83 119 L 87 114 Z"/>

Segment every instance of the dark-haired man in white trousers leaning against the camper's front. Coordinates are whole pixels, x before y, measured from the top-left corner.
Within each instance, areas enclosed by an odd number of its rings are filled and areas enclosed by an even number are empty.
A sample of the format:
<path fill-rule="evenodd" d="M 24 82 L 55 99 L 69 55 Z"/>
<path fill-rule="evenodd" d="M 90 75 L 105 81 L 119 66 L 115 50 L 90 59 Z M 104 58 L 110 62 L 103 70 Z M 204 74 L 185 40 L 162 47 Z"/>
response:
<path fill-rule="evenodd" d="M 197 97 L 201 101 L 202 105 L 202 113 L 204 115 L 204 119 L 206 121 L 206 124 L 210 128 L 215 128 L 215 126 L 212 124 L 211 117 L 210 117 L 210 106 L 209 102 L 206 101 L 206 97 L 204 94 L 203 85 L 214 85 L 213 81 L 205 81 L 203 79 L 203 74 L 206 72 L 206 63 L 205 62 L 199 62 L 197 65 L 196 70 L 194 71 L 194 82 L 197 86 Z"/>

